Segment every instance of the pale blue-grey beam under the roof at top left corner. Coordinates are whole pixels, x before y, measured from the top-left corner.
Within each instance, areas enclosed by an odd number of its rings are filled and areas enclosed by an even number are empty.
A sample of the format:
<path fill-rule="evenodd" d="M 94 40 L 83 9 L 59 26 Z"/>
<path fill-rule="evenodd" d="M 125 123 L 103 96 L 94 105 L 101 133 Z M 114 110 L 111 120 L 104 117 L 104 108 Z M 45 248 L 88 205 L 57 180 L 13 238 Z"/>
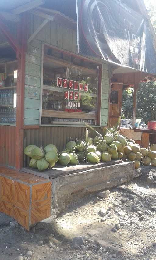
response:
<path fill-rule="evenodd" d="M 40 5 L 43 5 L 45 4 L 45 0 L 34 0 L 34 1 L 31 1 L 25 5 L 21 5 L 15 9 L 12 10 L 12 13 L 14 14 L 20 14 L 20 13 L 23 13 L 23 12 L 26 12 L 30 9 L 33 9 L 37 6 L 40 6 Z"/>

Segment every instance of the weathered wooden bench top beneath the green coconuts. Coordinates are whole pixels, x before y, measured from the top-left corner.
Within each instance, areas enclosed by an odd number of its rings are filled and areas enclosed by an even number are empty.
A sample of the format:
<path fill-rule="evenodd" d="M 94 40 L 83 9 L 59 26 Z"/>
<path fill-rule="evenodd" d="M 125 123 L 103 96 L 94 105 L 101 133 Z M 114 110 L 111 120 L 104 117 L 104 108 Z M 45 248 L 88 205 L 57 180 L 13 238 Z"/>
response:
<path fill-rule="evenodd" d="M 51 170 L 47 170 L 44 172 L 39 172 L 37 169 L 24 167 L 24 168 L 22 168 L 22 171 L 33 174 L 33 175 L 37 175 L 40 177 L 44 177 L 46 179 L 54 179 L 59 176 L 70 175 L 73 173 L 80 173 L 80 172 L 87 171 L 90 169 L 98 169 L 98 168 L 102 168 L 102 167 L 115 165 L 118 163 L 122 163 L 122 160 L 112 160 L 111 162 L 105 162 L 105 163 L 100 162 L 97 164 L 85 162 L 85 163 L 82 163 L 79 165 L 68 165 L 65 167 L 62 167 L 62 166 L 56 164 L 56 166 L 53 167 Z"/>

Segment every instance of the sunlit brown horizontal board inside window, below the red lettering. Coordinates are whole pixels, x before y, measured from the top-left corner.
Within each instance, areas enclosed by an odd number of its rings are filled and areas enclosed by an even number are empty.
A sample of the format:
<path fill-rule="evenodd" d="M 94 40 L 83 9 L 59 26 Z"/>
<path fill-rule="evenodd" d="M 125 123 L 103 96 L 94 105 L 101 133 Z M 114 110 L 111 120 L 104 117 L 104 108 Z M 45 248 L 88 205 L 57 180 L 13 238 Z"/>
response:
<path fill-rule="evenodd" d="M 97 114 L 90 113 L 77 113 L 77 112 L 65 112 L 65 111 L 54 111 L 42 109 L 42 116 L 45 117 L 58 117 L 58 118 L 72 118 L 76 117 L 77 119 L 96 119 Z"/>

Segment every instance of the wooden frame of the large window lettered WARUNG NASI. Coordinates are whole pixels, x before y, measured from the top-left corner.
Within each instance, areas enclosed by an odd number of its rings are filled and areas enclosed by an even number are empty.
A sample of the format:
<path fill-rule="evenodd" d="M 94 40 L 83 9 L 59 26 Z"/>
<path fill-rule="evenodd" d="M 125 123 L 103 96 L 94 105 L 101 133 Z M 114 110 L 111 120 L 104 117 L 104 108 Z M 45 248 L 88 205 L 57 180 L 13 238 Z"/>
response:
<path fill-rule="evenodd" d="M 101 124 L 101 95 L 102 95 L 102 93 L 101 93 L 101 91 L 102 91 L 102 62 L 98 62 L 96 60 L 87 58 L 85 56 L 81 56 L 81 55 L 78 55 L 76 53 L 69 52 L 69 51 L 63 50 L 61 48 L 58 48 L 56 46 L 45 44 L 45 43 L 42 44 L 42 56 L 41 56 L 41 94 L 40 94 L 40 119 L 39 119 L 39 125 L 40 126 L 61 126 L 59 123 L 58 124 L 56 123 L 55 125 L 54 124 L 48 124 L 48 125 L 41 124 L 42 116 L 45 115 L 45 117 L 47 117 L 46 115 L 49 115 L 49 113 L 51 114 L 51 117 L 53 115 L 54 115 L 54 117 L 56 117 L 55 114 L 59 113 L 59 117 L 60 118 L 67 118 L 67 116 L 68 116 L 68 118 L 70 118 L 70 119 L 73 119 L 75 117 L 77 119 L 83 119 L 86 116 L 86 113 L 54 111 L 54 110 L 45 110 L 45 109 L 42 110 L 42 94 L 43 94 L 43 86 L 44 86 L 44 84 L 43 84 L 44 46 L 46 46 L 48 48 L 51 48 L 53 50 L 59 51 L 59 52 L 61 52 L 63 54 L 70 55 L 72 57 L 76 57 L 76 58 L 78 58 L 80 60 L 92 62 L 92 63 L 97 65 L 97 71 L 98 71 L 98 95 L 97 95 L 97 98 L 98 98 L 98 102 L 97 102 L 98 109 L 97 109 L 97 111 L 98 112 L 96 114 L 89 114 L 88 113 L 87 114 L 87 119 L 96 119 L 97 120 L 97 125 L 93 125 L 93 126 L 100 126 L 100 124 Z M 48 55 L 45 55 L 45 56 L 48 57 Z M 50 55 L 49 55 L 48 58 L 51 58 L 51 60 L 55 60 L 56 59 L 58 61 L 61 61 L 61 60 L 59 60 L 59 58 L 57 59 L 55 57 L 51 57 Z M 64 61 L 64 63 L 65 64 L 68 63 L 69 65 L 70 64 L 73 65 L 72 63 L 67 62 L 67 61 Z M 78 65 L 75 65 L 75 66 L 78 66 Z M 80 67 L 80 66 L 78 66 L 78 67 Z M 84 69 L 85 69 L 85 67 L 84 67 Z M 90 69 L 90 68 L 88 68 L 88 69 Z M 90 70 L 92 70 L 92 69 L 90 69 Z M 64 124 L 63 122 L 62 122 L 62 125 L 63 126 L 69 126 L 69 124 Z M 74 125 L 74 122 L 70 124 L 70 126 L 73 126 L 73 125 Z M 82 123 L 82 124 L 77 125 L 77 126 L 79 126 L 79 127 L 83 126 L 84 127 L 84 124 Z"/>

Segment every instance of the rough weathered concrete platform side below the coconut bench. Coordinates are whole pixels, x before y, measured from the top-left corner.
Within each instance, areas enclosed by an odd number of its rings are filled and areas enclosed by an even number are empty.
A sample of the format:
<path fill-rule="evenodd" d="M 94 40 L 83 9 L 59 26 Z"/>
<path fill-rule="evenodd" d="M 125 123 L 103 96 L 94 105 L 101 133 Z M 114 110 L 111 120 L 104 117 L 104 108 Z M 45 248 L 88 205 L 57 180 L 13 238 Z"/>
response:
<path fill-rule="evenodd" d="M 89 194 L 126 183 L 135 177 L 134 162 L 89 169 L 52 180 L 51 214 L 56 217 Z"/>

